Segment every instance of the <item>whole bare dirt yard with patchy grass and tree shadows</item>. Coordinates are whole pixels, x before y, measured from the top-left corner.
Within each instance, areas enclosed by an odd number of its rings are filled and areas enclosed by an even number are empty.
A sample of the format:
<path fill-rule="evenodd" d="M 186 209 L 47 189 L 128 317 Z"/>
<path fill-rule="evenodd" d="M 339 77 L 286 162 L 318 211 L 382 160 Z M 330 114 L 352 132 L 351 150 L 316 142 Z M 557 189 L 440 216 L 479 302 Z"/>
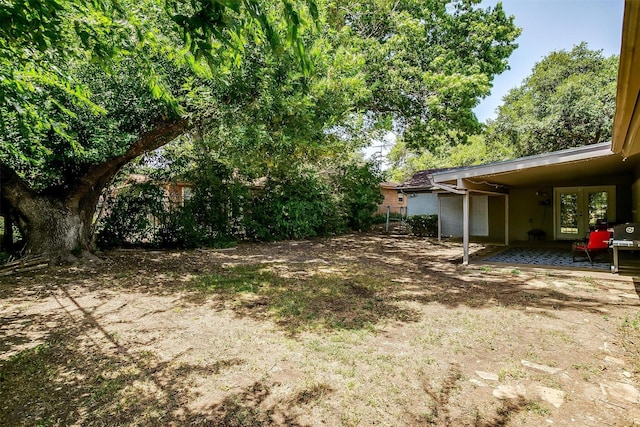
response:
<path fill-rule="evenodd" d="M 2 277 L 0 425 L 640 425 L 640 286 L 460 252 L 350 235 Z"/>

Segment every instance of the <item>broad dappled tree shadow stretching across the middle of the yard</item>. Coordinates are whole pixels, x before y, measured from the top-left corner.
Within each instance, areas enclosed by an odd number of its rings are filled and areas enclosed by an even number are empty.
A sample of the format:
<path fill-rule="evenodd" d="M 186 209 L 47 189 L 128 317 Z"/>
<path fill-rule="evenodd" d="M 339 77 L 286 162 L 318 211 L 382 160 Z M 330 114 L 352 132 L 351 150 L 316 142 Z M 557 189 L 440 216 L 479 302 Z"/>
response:
<path fill-rule="evenodd" d="M 422 316 L 418 305 L 532 308 L 553 317 L 561 310 L 600 313 L 612 304 L 595 294 L 578 296 L 571 288 L 532 289 L 515 275 L 470 277 L 446 256 L 430 257 L 433 248 L 439 246 L 424 240 L 352 236 L 255 245 L 231 255 L 113 252 L 102 267 L 37 272 L 21 278 L 20 286 L 3 284 L 0 293 L 22 298 L 26 289 L 37 285 L 42 297 L 56 284 L 73 284 L 87 290 L 174 296 L 176 305 L 207 304 L 231 309 L 240 317 L 269 319 L 291 335 L 308 329 L 373 329 L 390 321 L 414 322 Z M 634 307 L 636 301 L 615 304 Z M 19 334 L 14 339 L 19 340 Z"/>

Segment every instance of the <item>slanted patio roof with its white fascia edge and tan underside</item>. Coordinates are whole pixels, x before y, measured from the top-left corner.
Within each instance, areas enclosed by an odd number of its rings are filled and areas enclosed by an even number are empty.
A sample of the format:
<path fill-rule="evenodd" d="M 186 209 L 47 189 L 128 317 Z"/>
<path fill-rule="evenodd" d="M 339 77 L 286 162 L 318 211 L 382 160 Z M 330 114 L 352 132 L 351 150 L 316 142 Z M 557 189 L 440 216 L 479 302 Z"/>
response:
<path fill-rule="evenodd" d="M 433 180 L 471 191 L 504 192 L 508 188 L 561 186 L 567 182 L 620 176 L 631 173 L 636 164 L 614 154 L 607 142 L 437 172 L 433 174 Z"/>

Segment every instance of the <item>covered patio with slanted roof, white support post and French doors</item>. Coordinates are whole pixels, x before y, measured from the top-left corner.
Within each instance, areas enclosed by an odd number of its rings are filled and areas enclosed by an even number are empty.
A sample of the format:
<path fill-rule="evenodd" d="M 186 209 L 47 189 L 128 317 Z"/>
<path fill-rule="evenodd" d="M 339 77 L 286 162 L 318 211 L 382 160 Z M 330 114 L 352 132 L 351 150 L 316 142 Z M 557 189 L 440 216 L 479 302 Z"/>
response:
<path fill-rule="evenodd" d="M 584 238 L 599 222 L 633 221 L 636 157 L 613 153 L 607 142 L 435 172 L 433 181 L 439 199 L 462 199 L 463 264 L 469 263 L 469 242 L 474 238 L 470 224 L 480 216 L 487 218 L 487 234 L 481 238 L 505 246 L 531 245 L 532 240 L 564 245 L 568 262 L 550 255 L 543 258 L 554 259 L 554 265 L 579 267 L 571 260 L 571 242 Z M 472 199 L 479 196 L 488 200 L 486 212 L 473 208 Z"/>

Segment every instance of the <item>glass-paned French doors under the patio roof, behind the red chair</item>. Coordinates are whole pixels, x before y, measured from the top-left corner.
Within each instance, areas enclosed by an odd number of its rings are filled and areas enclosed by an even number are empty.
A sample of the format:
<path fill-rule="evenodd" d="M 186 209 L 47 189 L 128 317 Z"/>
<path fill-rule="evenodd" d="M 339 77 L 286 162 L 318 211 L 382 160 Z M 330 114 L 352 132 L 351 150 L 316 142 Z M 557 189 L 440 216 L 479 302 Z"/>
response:
<path fill-rule="evenodd" d="M 598 221 L 616 218 L 616 187 L 554 188 L 554 228 L 557 240 L 583 238 Z"/>

